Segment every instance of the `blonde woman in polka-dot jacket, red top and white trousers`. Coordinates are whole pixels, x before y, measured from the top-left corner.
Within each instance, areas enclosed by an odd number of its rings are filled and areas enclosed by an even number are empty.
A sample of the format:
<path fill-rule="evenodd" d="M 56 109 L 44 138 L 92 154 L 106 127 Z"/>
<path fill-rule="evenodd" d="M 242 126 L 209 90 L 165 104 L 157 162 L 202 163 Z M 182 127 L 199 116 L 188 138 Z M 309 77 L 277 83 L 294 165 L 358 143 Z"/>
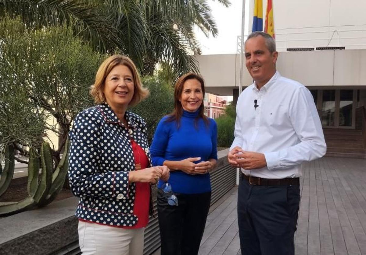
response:
<path fill-rule="evenodd" d="M 151 167 L 145 122 L 126 111 L 148 91 L 133 62 L 113 55 L 99 67 L 90 93 L 98 104 L 79 113 L 70 132 L 68 177 L 80 197 L 80 248 L 83 254 L 142 254 L 150 183 L 169 178 L 168 167 Z"/>

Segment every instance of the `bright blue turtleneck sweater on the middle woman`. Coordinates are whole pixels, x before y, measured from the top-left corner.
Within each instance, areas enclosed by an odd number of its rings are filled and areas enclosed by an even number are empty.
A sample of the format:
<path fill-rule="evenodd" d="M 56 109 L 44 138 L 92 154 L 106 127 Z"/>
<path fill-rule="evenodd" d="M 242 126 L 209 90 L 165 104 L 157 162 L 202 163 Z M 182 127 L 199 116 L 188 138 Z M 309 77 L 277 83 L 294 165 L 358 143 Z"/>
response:
<path fill-rule="evenodd" d="M 183 160 L 188 157 L 201 157 L 201 160 L 217 160 L 217 126 L 209 118 L 206 126 L 202 118 L 195 125 L 198 110 L 194 113 L 183 111 L 180 127 L 176 121 L 167 121 L 167 116 L 162 118 L 156 127 L 153 143 L 150 148 L 153 165 L 163 165 L 165 160 Z M 168 182 L 173 192 L 183 194 L 204 193 L 211 190 L 210 175 L 189 175 L 183 171 L 171 171 Z M 159 181 L 158 187 L 163 185 Z"/>

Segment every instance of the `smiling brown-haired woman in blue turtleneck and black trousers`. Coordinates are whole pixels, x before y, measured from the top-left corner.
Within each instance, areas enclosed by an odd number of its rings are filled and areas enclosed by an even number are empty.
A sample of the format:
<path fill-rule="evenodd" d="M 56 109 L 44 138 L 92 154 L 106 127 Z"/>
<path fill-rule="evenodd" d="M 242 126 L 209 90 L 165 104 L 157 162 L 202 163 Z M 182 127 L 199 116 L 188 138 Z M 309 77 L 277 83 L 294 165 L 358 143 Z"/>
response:
<path fill-rule="evenodd" d="M 159 122 L 151 145 L 153 165 L 170 168 L 172 195 L 158 183 L 161 254 L 198 254 L 210 207 L 209 171 L 217 161 L 216 122 L 204 115 L 205 85 L 201 76 L 187 73 L 175 84 L 173 113 Z M 166 191 L 166 190 L 165 190 Z M 175 201 L 177 202 L 177 201 Z M 171 203 L 173 204 L 173 203 Z"/>

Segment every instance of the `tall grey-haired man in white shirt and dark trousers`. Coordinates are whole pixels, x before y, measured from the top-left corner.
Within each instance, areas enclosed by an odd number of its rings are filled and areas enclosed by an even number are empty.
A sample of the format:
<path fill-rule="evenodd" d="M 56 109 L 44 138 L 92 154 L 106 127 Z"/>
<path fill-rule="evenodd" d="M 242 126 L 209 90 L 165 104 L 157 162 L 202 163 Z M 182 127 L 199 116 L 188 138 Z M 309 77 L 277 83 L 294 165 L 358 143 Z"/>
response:
<path fill-rule="evenodd" d="M 249 255 L 294 254 L 300 164 L 324 156 L 324 134 L 310 91 L 276 71 L 273 38 L 254 32 L 244 49 L 254 83 L 238 98 L 228 154 L 229 163 L 243 172 L 240 248 Z"/>

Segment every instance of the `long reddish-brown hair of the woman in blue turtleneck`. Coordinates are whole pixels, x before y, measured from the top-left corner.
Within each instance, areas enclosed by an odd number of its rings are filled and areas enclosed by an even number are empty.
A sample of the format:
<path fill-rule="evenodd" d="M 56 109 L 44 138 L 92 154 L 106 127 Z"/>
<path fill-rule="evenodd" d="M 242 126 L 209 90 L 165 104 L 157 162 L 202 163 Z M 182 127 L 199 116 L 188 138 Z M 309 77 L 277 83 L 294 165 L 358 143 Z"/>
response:
<path fill-rule="evenodd" d="M 177 128 L 180 127 L 180 119 L 183 115 L 183 107 L 182 103 L 180 103 L 179 99 L 183 92 L 184 83 L 186 80 L 196 79 L 201 84 L 201 90 L 203 94 L 201 106 L 199 106 L 198 116 L 195 119 L 195 127 L 197 127 L 197 122 L 199 118 L 202 118 L 205 122 L 206 127 L 209 125 L 209 120 L 205 115 L 205 106 L 203 105 L 203 99 L 205 98 L 205 81 L 203 80 L 201 75 L 196 73 L 186 73 L 181 76 L 178 81 L 175 83 L 174 88 L 174 110 L 171 114 L 168 115 L 167 121 L 176 121 Z"/>

